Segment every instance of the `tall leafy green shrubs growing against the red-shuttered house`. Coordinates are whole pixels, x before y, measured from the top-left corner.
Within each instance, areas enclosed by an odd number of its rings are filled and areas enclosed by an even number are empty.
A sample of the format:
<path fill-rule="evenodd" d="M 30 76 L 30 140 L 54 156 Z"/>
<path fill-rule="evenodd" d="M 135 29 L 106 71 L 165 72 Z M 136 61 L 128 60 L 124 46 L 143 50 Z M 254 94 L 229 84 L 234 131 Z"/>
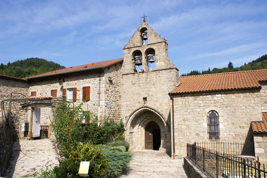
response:
<path fill-rule="evenodd" d="M 82 105 L 83 102 L 74 107 L 73 113 L 69 103 L 56 105 L 54 110 L 54 120 L 51 123 L 64 155 L 65 150 L 77 142 L 105 144 L 118 135 L 123 135 L 122 121 L 117 123 L 106 119 L 98 125 L 98 118 L 90 111 L 84 111 Z M 86 121 L 85 125 L 82 125 L 83 119 Z"/>

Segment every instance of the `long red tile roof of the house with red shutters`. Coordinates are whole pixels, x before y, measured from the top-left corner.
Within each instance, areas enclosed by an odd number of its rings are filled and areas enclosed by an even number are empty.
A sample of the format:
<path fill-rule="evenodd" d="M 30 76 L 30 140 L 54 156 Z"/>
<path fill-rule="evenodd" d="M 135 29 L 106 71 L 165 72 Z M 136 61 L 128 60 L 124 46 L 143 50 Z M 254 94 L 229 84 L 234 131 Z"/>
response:
<path fill-rule="evenodd" d="M 108 60 L 108 61 L 95 62 L 95 63 L 91 63 L 91 64 L 84 64 L 81 66 L 74 66 L 74 67 L 59 69 L 56 71 L 49 71 L 46 73 L 41 73 L 41 74 L 33 75 L 30 77 L 25 77 L 23 79 L 39 78 L 39 77 L 58 75 L 58 74 L 64 74 L 64 73 L 71 73 L 71 72 L 78 72 L 78 71 L 89 71 L 89 70 L 94 70 L 94 69 L 103 69 L 103 68 L 109 67 L 113 64 L 117 64 L 119 62 L 122 62 L 122 61 L 123 61 L 123 58 L 113 59 L 113 60 Z"/>

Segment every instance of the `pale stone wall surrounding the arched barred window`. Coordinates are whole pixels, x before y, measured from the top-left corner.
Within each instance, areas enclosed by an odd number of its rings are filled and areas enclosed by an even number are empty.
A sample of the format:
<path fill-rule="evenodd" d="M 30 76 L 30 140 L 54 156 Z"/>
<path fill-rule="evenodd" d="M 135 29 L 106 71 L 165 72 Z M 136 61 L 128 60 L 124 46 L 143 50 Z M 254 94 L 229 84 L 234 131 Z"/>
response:
<path fill-rule="evenodd" d="M 219 139 L 253 144 L 251 120 L 262 120 L 260 90 L 180 94 L 174 96 L 175 154 L 186 155 L 186 143 L 207 141 L 207 113 L 219 115 Z"/>

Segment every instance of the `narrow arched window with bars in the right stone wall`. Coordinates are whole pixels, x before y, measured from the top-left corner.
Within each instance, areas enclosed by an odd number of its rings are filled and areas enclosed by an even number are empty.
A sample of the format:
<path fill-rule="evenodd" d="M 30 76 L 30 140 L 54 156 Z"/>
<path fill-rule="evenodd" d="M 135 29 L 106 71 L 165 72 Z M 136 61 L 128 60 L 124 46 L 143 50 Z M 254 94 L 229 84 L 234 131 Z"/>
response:
<path fill-rule="evenodd" d="M 219 115 L 211 110 L 207 115 L 209 140 L 219 140 Z"/>

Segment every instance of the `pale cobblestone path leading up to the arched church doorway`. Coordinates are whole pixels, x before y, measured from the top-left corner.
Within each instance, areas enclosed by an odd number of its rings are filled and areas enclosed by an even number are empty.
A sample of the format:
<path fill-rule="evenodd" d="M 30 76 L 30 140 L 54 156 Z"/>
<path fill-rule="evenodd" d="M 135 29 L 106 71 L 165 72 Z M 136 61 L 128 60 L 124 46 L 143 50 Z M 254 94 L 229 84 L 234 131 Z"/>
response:
<path fill-rule="evenodd" d="M 184 159 L 171 160 L 154 150 L 132 151 L 130 169 L 120 178 L 189 178 L 184 172 Z"/>

